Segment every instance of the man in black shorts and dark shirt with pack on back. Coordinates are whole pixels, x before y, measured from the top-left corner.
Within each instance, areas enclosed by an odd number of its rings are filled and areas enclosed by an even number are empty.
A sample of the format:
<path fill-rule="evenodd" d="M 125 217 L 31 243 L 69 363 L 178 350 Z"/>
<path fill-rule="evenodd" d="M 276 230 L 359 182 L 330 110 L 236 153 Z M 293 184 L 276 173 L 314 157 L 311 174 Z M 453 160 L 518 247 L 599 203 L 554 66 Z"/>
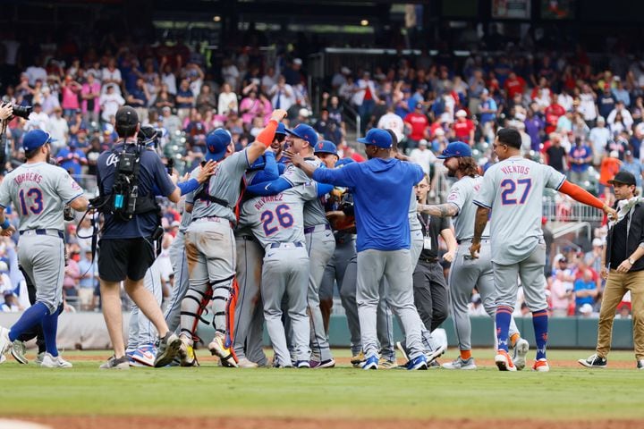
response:
<path fill-rule="evenodd" d="M 153 187 L 160 194 L 176 203 L 181 197 L 181 191 L 165 172 L 159 156 L 137 140 L 140 131 L 139 116 L 130 106 L 121 107 L 115 116 L 115 129 L 119 140 L 112 150 L 103 152 L 97 161 L 97 181 L 103 209 L 105 226 L 99 241 L 98 276 L 100 278 L 101 297 L 103 299 L 103 315 L 107 330 L 114 346 L 114 357 L 101 366 L 103 369 L 128 369 L 129 362 L 125 356 L 123 344 L 123 315 L 121 313 L 120 282 L 124 281 L 125 291 L 148 317 L 159 332 L 159 345 L 155 366 L 165 366 L 176 355 L 180 341 L 176 335 L 169 332 L 161 308 L 156 299 L 145 289 L 143 278 L 148 268 L 155 260 L 156 253 L 153 235 L 157 231 L 160 219 L 156 203 L 153 199 Z M 131 218 L 123 219 L 117 215 L 118 192 L 114 191 L 114 183 L 119 180 L 120 164 L 123 153 L 139 156 L 134 166 L 133 186 L 138 187 L 137 208 L 152 201 L 152 208 L 141 213 L 141 209 L 133 210 Z M 138 164 L 136 164 L 138 163 Z M 136 172 L 138 170 L 138 172 Z M 114 194 L 114 195 L 113 195 Z M 130 197 L 131 198 L 131 197 Z M 126 206 L 128 203 L 124 203 Z M 116 207 L 116 208 L 114 208 Z"/>

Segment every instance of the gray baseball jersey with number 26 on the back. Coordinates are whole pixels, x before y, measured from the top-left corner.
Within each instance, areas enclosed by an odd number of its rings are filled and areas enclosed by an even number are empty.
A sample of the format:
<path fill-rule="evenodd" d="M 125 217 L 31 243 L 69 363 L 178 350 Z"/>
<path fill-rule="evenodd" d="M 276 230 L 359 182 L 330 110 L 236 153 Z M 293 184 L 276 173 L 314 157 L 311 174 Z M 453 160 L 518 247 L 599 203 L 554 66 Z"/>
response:
<path fill-rule="evenodd" d="M 250 225 L 264 248 L 272 243 L 303 243 L 304 203 L 317 197 L 318 186 L 309 181 L 277 195 L 251 198 L 243 205 L 240 222 Z"/>

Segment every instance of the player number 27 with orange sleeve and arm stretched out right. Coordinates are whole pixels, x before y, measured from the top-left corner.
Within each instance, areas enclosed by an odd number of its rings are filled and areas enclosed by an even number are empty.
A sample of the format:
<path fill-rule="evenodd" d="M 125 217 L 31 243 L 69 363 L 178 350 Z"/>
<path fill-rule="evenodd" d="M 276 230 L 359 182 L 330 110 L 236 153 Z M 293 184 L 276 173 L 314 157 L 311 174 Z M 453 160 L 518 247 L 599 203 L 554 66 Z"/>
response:
<path fill-rule="evenodd" d="M 480 190 L 474 197 L 479 206 L 474 223 L 470 255 L 479 258 L 483 231 L 491 214 L 492 264 L 496 287 L 495 362 L 500 371 L 516 371 L 508 355 L 509 327 L 516 303 L 521 277 L 523 295 L 532 312 L 537 341 L 537 356 L 532 369 L 547 372 L 547 302 L 546 243 L 541 231 L 544 188 L 557 189 L 589 206 L 602 209 L 616 217 L 613 208 L 593 197 L 584 189 L 565 180 L 565 176 L 549 165 L 521 157 L 521 134 L 514 128 L 498 130 L 493 150 L 499 162 L 483 176 Z"/>

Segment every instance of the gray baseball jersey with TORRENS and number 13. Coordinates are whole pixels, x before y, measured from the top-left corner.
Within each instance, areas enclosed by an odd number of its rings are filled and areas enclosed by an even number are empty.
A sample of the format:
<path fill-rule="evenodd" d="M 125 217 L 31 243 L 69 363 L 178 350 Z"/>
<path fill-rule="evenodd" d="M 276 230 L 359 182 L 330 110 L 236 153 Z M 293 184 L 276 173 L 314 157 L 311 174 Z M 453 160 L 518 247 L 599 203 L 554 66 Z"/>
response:
<path fill-rule="evenodd" d="M 64 230 L 63 208 L 83 191 L 68 172 L 47 163 L 22 164 L 4 176 L 0 206 L 13 202 L 20 214 L 20 231 Z"/>

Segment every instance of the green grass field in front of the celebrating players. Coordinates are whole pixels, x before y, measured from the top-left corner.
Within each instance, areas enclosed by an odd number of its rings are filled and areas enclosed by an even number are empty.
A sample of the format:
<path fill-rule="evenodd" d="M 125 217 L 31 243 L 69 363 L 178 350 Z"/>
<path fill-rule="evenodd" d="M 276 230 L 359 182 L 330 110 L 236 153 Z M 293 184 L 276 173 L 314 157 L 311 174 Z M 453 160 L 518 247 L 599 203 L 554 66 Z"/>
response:
<path fill-rule="evenodd" d="M 65 353 L 74 364 L 68 370 L 20 366 L 8 357 L 0 366 L 0 416 L 410 421 L 477 416 L 481 421 L 561 423 L 644 418 L 644 371 L 634 369 L 632 352 L 611 353 L 609 366 L 633 369 L 574 366 L 577 358 L 591 353 L 549 351 L 553 368 L 547 374 L 500 373 L 491 366 L 489 350 L 475 351 L 479 366 L 487 363 L 478 371 L 424 372 L 361 371 L 348 364 L 329 370 L 229 369 L 216 366 L 203 352 L 199 368 L 121 372 L 97 369 L 105 351 Z M 449 350 L 443 361 L 455 354 Z M 347 362 L 349 352 L 335 350 L 335 356 Z"/>

